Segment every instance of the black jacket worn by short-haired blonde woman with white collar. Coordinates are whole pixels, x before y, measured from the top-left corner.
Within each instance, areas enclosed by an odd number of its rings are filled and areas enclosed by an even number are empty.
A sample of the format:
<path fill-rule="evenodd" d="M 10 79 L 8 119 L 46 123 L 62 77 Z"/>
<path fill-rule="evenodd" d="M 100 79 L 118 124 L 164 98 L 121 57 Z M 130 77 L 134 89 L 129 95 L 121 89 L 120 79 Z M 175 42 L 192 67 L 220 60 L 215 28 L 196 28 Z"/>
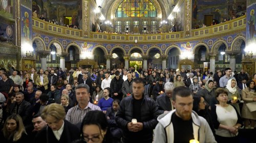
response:
<path fill-rule="evenodd" d="M 80 130 L 75 125 L 64 120 L 64 129 L 59 140 L 56 139 L 50 127 L 45 127 L 40 132 L 38 132 L 38 134 L 35 136 L 34 142 L 46 143 L 47 132 L 48 132 L 48 143 L 51 143 L 51 142 L 70 143 L 76 139 L 79 139 L 79 136 L 80 136 Z"/>

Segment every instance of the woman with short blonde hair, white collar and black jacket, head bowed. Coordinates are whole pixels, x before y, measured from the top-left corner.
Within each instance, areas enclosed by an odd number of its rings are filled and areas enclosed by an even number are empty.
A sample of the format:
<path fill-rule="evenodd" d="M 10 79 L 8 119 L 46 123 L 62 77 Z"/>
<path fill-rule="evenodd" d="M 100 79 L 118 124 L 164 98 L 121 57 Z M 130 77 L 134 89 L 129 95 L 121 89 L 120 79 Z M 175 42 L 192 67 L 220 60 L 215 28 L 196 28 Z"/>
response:
<path fill-rule="evenodd" d="M 62 142 L 70 143 L 79 138 L 79 129 L 65 120 L 66 112 L 63 106 L 57 103 L 47 105 L 41 113 L 47 127 L 37 133 L 36 143 Z"/>

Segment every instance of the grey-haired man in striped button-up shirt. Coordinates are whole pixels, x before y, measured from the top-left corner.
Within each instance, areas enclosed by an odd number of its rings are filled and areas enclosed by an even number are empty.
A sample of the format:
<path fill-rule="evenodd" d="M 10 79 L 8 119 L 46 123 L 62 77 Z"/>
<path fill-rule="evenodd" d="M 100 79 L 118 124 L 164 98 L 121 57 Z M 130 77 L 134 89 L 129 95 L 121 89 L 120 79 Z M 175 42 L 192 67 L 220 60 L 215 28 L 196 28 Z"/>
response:
<path fill-rule="evenodd" d="M 99 106 L 89 102 L 90 88 L 87 84 L 77 85 L 75 92 L 78 105 L 69 109 L 66 120 L 79 127 L 87 112 L 101 109 Z"/>

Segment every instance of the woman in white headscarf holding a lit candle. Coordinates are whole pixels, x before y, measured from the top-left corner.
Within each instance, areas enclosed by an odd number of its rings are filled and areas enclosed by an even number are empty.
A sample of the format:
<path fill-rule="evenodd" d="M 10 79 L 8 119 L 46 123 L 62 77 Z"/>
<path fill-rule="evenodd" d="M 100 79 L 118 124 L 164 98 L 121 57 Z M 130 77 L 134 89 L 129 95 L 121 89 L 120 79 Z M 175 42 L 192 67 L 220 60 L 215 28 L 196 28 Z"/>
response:
<path fill-rule="evenodd" d="M 236 79 L 229 79 L 227 81 L 227 85 L 225 89 L 228 91 L 228 103 L 236 107 L 239 112 L 239 115 L 241 115 L 240 108 L 239 108 L 241 96 L 237 88 Z"/>

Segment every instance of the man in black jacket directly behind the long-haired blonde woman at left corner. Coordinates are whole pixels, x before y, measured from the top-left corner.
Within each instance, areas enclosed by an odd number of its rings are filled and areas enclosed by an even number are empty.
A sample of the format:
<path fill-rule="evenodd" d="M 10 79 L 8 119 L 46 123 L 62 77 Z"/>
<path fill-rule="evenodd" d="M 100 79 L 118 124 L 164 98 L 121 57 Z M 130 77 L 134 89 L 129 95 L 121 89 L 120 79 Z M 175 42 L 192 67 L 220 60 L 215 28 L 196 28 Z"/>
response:
<path fill-rule="evenodd" d="M 30 103 L 24 100 L 23 93 L 16 93 L 15 95 L 16 102 L 13 102 L 10 105 L 10 114 L 16 113 L 22 117 L 22 121 L 25 125 L 30 123 L 29 119 L 29 108 Z"/>

